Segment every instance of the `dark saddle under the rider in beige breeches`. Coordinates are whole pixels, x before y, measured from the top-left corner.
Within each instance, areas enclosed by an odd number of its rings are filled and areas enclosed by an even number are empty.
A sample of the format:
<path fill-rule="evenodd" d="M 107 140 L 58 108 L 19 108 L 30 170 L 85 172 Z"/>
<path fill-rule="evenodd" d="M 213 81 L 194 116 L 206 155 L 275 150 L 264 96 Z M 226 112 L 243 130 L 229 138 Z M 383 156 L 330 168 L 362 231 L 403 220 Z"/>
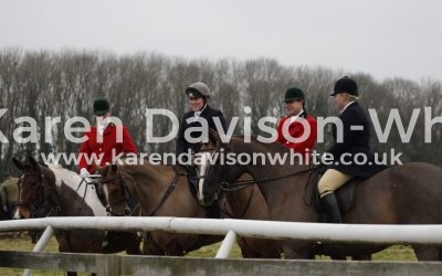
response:
<path fill-rule="evenodd" d="M 307 183 L 305 185 L 304 203 L 311 205 L 319 215 L 319 221 L 325 222 L 325 209 L 320 202 L 318 192 L 318 182 L 323 177 L 327 168 L 318 167 L 315 168 L 308 176 Z M 365 179 L 352 178 L 339 189 L 335 191 L 336 199 L 338 201 L 340 213 L 344 215 L 349 212 L 355 205 L 355 188 L 356 184 Z"/>

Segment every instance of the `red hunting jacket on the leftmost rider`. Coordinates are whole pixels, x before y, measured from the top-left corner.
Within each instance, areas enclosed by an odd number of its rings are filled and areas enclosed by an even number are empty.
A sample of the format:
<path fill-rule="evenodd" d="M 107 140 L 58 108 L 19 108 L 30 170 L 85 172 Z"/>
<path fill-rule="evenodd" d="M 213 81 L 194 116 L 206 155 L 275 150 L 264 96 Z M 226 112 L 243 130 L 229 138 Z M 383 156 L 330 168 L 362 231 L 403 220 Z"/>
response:
<path fill-rule="evenodd" d="M 138 153 L 137 147 L 135 146 L 127 128 L 123 126 L 123 141 L 117 142 L 117 126 L 110 123 L 103 132 L 102 142 L 97 141 L 97 129 L 95 126 L 91 127 L 90 131 L 85 134 L 88 138 L 86 141 L 82 144 L 78 150 L 80 162 L 78 162 L 78 171 L 82 168 L 86 168 L 90 173 L 95 171 L 95 167 L 93 162 L 87 162 L 87 158 L 96 155 L 96 162 L 99 160 L 99 155 L 103 153 L 103 159 L 98 162 L 98 166 L 103 167 L 106 163 L 112 163 L 112 158 L 118 156 L 119 153 Z M 112 151 L 115 149 L 115 153 L 113 156 Z M 86 158 L 87 157 L 87 158 Z"/>

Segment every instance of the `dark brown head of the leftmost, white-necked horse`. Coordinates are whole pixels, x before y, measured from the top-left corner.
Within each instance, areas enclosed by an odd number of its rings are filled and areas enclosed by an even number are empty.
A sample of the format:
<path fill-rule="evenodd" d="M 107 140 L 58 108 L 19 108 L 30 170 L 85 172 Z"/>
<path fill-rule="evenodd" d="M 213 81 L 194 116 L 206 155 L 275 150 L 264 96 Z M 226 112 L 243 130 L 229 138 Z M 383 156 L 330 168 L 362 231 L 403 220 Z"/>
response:
<path fill-rule="evenodd" d="M 55 176 L 29 157 L 28 162 L 12 159 L 23 174 L 20 178 L 19 198 L 17 200 L 14 219 L 49 216 L 60 210 L 60 202 L 55 195 Z"/>

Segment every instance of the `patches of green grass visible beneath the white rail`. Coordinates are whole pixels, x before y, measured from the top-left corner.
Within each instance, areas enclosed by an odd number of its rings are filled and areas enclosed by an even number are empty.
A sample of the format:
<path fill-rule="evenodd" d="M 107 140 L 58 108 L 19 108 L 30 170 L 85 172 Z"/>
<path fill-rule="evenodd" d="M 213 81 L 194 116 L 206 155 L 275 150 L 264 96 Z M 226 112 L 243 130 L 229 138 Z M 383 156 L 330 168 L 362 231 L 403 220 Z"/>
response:
<path fill-rule="evenodd" d="M 31 238 L 27 233 L 22 233 L 21 237 L 13 238 L 12 235 L 1 235 L 0 236 L 0 250 L 1 251 L 32 251 L 34 244 L 31 243 Z M 189 257 L 214 257 L 220 244 L 213 244 L 210 246 L 204 246 L 198 251 L 189 253 Z M 46 247 L 46 252 L 57 252 L 57 244 L 55 238 L 52 238 Z M 122 253 L 124 254 L 124 253 Z M 240 258 L 241 252 L 238 246 L 234 246 L 230 254 L 231 258 Z M 326 256 L 317 256 L 319 259 L 329 259 Z M 376 253 L 372 255 L 373 261 L 415 261 L 414 253 L 409 246 L 396 245 L 391 246 L 385 251 Z M 0 267 L 1 276 L 12 276 L 22 275 L 22 269 L 14 268 L 3 268 Z M 48 275 L 48 276 L 61 276 L 64 275 L 62 272 L 41 272 L 34 270 L 33 275 Z M 87 274 L 81 274 L 87 275 Z"/>

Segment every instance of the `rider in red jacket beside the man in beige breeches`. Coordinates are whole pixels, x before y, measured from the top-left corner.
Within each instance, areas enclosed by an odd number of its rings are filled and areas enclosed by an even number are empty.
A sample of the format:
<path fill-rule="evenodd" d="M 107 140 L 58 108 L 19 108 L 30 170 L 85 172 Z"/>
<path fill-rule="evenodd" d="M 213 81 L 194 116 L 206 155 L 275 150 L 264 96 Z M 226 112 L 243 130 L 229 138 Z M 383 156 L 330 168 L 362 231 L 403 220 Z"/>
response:
<path fill-rule="evenodd" d="M 285 93 L 284 103 L 287 115 L 281 118 L 277 124 L 276 141 L 293 149 L 295 152 L 302 153 L 304 156 L 304 161 L 307 161 L 316 144 L 317 123 L 315 118 L 305 110 L 305 96 L 302 89 L 297 87 L 288 88 Z M 303 135 L 307 127 L 305 127 L 301 120 L 304 120 L 309 127 L 309 135 L 306 137 L 303 137 Z M 284 124 L 286 124 L 286 134 L 283 131 Z M 295 138 L 299 140 L 296 141 L 294 140 Z"/>

